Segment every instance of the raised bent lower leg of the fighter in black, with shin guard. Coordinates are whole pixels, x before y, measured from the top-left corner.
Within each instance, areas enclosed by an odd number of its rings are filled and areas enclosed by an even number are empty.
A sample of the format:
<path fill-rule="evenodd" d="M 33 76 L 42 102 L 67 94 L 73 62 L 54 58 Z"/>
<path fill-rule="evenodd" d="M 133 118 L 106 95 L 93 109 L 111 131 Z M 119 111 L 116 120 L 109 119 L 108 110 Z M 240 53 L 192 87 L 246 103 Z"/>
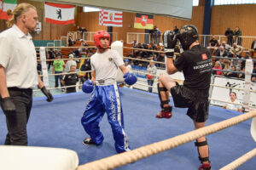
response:
<path fill-rule="evenodd" d="M 176 82 L 171 77 L 166 74 L 160 76 L 157 88 L 160 98 L 160 107 L 162 110 L 156 115 L 157 118 L 171 118 L 172 106 L 169 105 L 170 90 L 174 86 L 176 86 Z"/>

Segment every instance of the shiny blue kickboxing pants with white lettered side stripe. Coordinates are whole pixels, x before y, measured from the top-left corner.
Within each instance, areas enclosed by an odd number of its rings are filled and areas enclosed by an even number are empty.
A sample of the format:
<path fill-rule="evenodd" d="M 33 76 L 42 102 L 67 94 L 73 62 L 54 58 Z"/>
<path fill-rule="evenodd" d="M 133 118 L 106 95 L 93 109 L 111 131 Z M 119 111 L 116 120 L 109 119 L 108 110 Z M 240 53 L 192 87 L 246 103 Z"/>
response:
<path fill-rule="evenodd" d="M 118 153 L 130 150 L 128 137 L 124 130 L 123 111 L 117 84 L 96 86 L 81 119 L 84 130 L 96 144 L 102 144 L 104 139 L 99 123 L 105 111 L 112 128 L 115 150 Z"/>

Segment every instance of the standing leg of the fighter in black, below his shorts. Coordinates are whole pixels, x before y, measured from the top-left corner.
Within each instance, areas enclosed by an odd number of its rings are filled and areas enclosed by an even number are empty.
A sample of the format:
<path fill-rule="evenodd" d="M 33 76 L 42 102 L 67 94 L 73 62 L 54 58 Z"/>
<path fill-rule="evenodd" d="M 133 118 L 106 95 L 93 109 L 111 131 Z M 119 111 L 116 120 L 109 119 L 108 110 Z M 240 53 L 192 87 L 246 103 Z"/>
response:
<path fill-rule="evenodd" d="M 195 122 L 195 129 L 205 127 L 206 122 Z M 207 138 L 205 136 L 196 139 L 195 146 L 197 146 L 198 154 L 199 154 L 199 160 L 201 161 L 201 167 L 199 167 L 199 170 L 211 170 L 211 164 L 209 160 L 209 147 L 207 144 Z"/>

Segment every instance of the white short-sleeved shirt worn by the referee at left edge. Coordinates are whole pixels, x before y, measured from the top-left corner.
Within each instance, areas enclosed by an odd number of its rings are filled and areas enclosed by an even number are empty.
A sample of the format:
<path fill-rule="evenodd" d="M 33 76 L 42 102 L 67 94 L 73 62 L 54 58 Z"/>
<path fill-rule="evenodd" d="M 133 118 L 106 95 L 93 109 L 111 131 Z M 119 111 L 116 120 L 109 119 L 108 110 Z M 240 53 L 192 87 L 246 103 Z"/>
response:
<path fill-rule="evenodd" d="M 7 87 L 38 85 L 37 54 L 30 34 L 17 26 L 0 33 L 0 65 L 5 68 Z"/>

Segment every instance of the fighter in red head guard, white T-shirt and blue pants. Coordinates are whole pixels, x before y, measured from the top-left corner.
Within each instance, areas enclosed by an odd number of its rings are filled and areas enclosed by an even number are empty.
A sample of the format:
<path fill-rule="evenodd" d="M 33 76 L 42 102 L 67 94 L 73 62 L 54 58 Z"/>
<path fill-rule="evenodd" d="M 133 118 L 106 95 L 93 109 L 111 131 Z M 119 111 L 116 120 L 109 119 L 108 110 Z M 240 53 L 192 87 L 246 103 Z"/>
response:
<path fill-rule="evenodd" d="M 102 121 L 104 113 L 107 112 L 116 151 L 118 153 L 128 151 L 130 146 L 124 130 L 123 111 L 116 82 L 118 67 L 125 74 L 124 78 L 127 84 L 132 85 L 137 82 L 137 77 L 127 71 L 124 61 L 117 51 L 108 49 L 108 32 L 96 31 L 94 41 L 97 52 L 90 58 L 92 79 L 84 82 L 82 87 L 85 93 L 93 92 L 81 119 L 84 130 L 90 135 L 90 138 L 84 139 L 84 144 L 102 144 L 104 137 L 99 123 Z M 95 88 L 94 84 L 96 84 Z"/>

